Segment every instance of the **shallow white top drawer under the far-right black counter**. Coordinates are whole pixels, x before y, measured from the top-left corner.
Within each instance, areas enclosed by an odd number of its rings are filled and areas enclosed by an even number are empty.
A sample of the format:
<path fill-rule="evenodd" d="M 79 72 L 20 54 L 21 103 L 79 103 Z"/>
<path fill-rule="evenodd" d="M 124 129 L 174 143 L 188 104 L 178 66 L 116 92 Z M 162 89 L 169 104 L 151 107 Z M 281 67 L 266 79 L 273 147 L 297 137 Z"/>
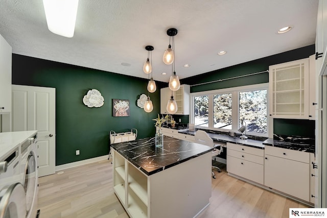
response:
<path fill-rule="evenodd" d="M 309 152 L 300 152 L 290 149 L 277 148 L 273 146 L 265 146 L 265 154 L 289 160 L 295 160 L 303 163 L 310 162 Z"/>

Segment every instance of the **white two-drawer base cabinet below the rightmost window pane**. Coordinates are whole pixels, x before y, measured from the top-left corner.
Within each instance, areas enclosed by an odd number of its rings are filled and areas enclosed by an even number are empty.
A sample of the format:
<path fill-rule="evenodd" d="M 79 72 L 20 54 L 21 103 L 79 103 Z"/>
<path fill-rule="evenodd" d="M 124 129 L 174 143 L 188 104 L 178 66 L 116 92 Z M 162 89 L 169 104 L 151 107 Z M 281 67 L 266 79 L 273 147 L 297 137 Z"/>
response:
<path fill-rule="evenodd" d="M 228 174 L 264 184 L 264 150 L 227 142 Z"/>

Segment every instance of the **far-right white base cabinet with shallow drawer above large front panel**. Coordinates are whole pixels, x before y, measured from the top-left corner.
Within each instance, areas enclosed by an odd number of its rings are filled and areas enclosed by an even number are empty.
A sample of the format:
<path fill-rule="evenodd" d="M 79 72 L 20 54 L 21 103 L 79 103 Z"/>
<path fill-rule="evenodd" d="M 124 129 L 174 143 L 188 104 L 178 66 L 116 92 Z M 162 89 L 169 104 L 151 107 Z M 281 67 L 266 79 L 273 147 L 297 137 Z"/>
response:
<path fill-rule="evenodd" d="M 266 146 L 264 184 L 309 202 L 309 154 Z"/>

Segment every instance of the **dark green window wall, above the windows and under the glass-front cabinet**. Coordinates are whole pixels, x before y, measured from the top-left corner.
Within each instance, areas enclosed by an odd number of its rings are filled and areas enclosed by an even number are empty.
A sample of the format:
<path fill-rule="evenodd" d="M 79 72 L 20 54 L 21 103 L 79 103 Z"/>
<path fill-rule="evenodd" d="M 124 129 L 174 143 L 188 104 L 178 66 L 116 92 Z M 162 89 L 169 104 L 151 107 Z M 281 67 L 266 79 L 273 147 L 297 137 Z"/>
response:
<path fill-rule="evenodd" d="M 211 81 L 217 81 L 232 77 L 238 77 L 255 72 L 261 72 L 269 69 L 270 65 L 285 63 L 289 61 L 299 60 L 302 58 L 308 58 L 310 55 L 315 54 L 315 45 L 309 45 L 301 47 L 292 51 L 284 52 L 281 54 L 272 55 L 256 59 L 253 61 L 237 64 L 205 74 L 197 75 L 182 79 L 181 84 L 191 85 L 191 92 L 200 92 L 208 90 L 216 90 L 222 88 L 230 88 L 237 86 L 253 85 L 269 82 L 269 73 L 257 74 L 237 79 L 225 80 L 221 82 L 214 82 L 209 84 L 192 86 L 195 84 L 206 83 Z M 217 57 L 219 58 L 219 57 Z M 183 120 L 188 118 L 183 117 Z M 314 138 L 315 122 L 306 119 L 274 119 L 274 133 L 282 135 L 296 135 L 303 137 Z"/>

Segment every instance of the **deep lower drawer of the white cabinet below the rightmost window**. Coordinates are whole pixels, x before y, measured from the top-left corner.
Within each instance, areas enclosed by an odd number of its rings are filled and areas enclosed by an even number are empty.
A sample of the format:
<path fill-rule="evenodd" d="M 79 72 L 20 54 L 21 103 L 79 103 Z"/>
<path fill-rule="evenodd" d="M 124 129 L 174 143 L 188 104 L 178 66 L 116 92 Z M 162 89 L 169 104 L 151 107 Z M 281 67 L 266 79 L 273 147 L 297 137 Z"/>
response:
<path fill-rule="evenodd" d="M 264 184 L 264 165 L 227 155 L 227 172 Z"/>

